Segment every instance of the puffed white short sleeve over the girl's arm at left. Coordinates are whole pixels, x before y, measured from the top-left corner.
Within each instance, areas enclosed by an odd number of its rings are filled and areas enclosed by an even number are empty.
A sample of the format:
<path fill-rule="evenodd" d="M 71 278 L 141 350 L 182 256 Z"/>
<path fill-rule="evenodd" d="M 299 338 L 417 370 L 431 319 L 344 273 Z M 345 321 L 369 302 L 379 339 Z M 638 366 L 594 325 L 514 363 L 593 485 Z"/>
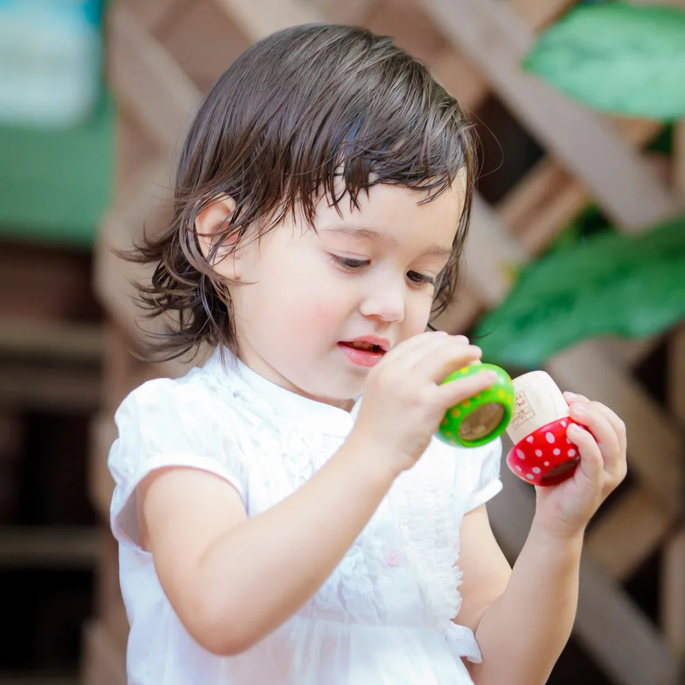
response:
<path fill-rule="evenodd" d="M 114 414 L 118 437 L 108 467 L 114 478 L 110 519 L 114 537 L 140 547 L 136 487 L 168 466 L 208 471 L 238 491 L 247 507 L 246 429 L 212 390 L 160 378 L 136 388 Z"/>

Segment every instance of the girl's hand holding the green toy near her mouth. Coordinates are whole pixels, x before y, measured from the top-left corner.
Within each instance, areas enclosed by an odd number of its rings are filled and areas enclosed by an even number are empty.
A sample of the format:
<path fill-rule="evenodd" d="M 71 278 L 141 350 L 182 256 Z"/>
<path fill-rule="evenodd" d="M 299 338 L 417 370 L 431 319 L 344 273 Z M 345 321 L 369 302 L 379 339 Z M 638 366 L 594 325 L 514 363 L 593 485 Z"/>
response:
<path fill-rule="evenodd" d="M 450 373 L 473 364 L 481 350 L 464 336 L 426 332 L 404 340 L 376 364 L 364 384 L 364 399 L 351 433 L 368 440 L 399 473 L 423 454 L 445 412 L 492 386 L 483 371 L 440 385 Z"/>

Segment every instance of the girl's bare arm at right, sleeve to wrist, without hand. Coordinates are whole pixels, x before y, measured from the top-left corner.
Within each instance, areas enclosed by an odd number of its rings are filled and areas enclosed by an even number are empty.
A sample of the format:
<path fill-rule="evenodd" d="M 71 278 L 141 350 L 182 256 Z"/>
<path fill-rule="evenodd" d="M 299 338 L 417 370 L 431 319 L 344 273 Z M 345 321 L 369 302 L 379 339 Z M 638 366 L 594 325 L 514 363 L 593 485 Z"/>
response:
<path fill-rule="evenodd" d="M 581 547 L 582 534 L 563 540 L 534 521 L 510 570 L 485 506 L 466 514 L 458 620 L 475 632 L 483 655 L 482 664 L 468 664 L 476 685 L 547 681 L 573 627 Z"/>

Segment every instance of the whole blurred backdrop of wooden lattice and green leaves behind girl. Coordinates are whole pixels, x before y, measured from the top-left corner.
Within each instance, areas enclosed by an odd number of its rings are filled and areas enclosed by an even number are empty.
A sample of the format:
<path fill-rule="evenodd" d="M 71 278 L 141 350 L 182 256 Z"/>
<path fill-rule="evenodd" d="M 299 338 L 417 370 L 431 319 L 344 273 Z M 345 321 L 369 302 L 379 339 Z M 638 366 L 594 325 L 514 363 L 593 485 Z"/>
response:
<path fill-rule="evenodd" d="M 251 42 L 364 25 L 480 138 L 462 282 L 436 322 L 625 419 L 553 685 L 685 682 L 685 0 L 0 0 L 0 685 L 124 685 L 112 416 L 152 366 L 112 254 L 164 221 L 179 142 Z M 508 446 L 507 446 L 508 447 Z M 490 505 L 515 560 L 532 488 Z"/>

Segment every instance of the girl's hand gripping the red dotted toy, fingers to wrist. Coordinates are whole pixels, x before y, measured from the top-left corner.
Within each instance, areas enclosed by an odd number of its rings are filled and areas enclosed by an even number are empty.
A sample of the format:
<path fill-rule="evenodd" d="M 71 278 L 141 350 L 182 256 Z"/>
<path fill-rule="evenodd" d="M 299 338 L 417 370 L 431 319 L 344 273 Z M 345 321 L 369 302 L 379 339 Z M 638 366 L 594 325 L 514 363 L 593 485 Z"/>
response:
<path fill-rule="evenodd" d="M 535 518 L 555 535 L 581 534 L 609 493 L 625 477 L 625 424 L 612 410 L 574 393 L 564 393 L 571 419 L 567 437 L 580 451 L 573 476 L 550 487 L 536 487 Z"/>

